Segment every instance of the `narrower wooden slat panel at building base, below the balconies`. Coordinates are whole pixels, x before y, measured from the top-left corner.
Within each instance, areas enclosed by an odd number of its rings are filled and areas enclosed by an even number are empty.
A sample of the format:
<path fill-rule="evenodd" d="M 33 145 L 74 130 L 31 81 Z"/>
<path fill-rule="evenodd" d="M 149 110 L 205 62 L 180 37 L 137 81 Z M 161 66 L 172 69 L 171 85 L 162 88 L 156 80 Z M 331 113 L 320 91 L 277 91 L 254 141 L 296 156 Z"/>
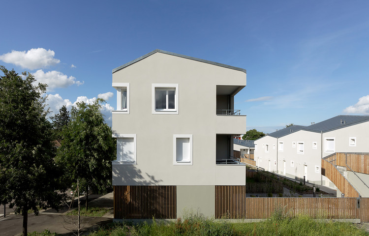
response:
<path fill-rule="evenodd" d="M 215 218 L 245 218 L 245 186 L 215 186 Z"/>

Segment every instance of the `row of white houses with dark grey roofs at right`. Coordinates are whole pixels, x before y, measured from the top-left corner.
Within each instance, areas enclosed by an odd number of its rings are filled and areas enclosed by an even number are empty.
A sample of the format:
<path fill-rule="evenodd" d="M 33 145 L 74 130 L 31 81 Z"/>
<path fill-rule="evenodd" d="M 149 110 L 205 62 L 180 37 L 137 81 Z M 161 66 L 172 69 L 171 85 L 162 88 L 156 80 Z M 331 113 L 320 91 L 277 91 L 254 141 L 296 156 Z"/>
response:
<path fill-rule="evenodd" d="M 336 152 L 369 152 L 369 116 L 337 116 L 293 125 L 254 141 L 256 165 L 266 171 L 334 187 L 321 175 L 322 158 Z"/>

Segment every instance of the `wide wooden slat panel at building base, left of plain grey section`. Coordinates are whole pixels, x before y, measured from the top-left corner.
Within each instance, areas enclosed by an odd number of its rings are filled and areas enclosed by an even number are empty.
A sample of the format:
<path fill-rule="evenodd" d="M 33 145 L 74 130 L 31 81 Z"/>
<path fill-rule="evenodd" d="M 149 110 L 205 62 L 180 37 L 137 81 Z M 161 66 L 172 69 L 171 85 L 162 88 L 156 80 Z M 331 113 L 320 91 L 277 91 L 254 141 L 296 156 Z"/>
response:
<path fill-rule="evenodd" d="M 113 186 L 115 219 L 176 219 L 177 186 Z"/>

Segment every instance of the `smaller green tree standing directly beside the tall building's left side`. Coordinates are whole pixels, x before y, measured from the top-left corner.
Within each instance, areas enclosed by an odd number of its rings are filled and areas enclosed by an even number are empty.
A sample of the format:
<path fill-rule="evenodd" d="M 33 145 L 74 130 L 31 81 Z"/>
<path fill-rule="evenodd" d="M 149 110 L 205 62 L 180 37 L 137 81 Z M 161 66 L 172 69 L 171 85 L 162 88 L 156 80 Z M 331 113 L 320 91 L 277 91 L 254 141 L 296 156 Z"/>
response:
<path fill-rule="evenodd" d="M 116 159 L 116 142 L 111 128 L 101 114 L 103 99 L 92 104 L 77 103 L 71 110 L 68 124 L 62 129 L 62 147 L 57 160 L 65 167 L 69 185 L 79 183 L 86 193 L 88 209 L 89 189 L 105 193 L 112 186 L 111 161 Z"/>

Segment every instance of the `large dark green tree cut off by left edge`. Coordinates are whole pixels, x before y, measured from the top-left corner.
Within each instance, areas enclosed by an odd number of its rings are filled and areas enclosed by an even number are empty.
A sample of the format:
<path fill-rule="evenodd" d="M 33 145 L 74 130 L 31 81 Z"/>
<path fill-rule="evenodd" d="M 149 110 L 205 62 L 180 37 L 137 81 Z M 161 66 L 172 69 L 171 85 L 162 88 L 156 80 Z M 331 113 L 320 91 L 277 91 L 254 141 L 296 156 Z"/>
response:
<path fill-rule="evenodd" d="M 46 119 L 46 84 L 34 86 L 30 73 L 18 75 L 0 66 L 0 200 L 23 215 L 27 236 L 28 210 L 58 208 L 62 196 L 59 174 L 54 165 L 55 149 L 51 124 Z"/>

